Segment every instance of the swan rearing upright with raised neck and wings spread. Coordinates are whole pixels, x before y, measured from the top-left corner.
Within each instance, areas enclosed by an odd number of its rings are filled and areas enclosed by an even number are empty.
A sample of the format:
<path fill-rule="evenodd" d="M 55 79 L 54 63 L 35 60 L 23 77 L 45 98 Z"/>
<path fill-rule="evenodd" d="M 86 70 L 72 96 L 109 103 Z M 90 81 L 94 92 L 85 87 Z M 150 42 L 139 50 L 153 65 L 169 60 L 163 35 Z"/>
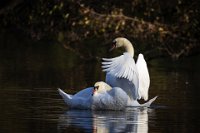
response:
<path fill-rule="evenodd" d="M 141 106 L 137 100 L 148 100 L 150 77 L 147 63 L 143 54 L 139 54 L 135 63 L 133 59 L 134 48 L 128 39 L 123 37 L 114 39 L 111 50 L 119 47 L 124 47 L 123 55 L 115 58 L 102 58 L 102 68 L 106 72 L 106 83 L 112 87 L 122 88 L 130 98 L 129 106 Z M 151 99 L 149 103 L 151 104 L 155 99 L 156 97 Z"/>

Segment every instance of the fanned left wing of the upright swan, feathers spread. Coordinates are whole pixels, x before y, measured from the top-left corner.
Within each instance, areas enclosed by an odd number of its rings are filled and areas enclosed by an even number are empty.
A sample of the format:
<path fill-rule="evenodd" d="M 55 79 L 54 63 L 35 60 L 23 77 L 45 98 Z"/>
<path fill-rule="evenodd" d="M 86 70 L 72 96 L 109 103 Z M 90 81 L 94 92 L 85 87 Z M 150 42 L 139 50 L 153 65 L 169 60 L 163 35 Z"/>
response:
<path fill-rule="evenodd" d="M 115 58 L 103 58 L 106 82 L 112 87 L 122 88 L 132 99 L 139 99 L 139 77 L 134 59 L 129 53 Z"/>

